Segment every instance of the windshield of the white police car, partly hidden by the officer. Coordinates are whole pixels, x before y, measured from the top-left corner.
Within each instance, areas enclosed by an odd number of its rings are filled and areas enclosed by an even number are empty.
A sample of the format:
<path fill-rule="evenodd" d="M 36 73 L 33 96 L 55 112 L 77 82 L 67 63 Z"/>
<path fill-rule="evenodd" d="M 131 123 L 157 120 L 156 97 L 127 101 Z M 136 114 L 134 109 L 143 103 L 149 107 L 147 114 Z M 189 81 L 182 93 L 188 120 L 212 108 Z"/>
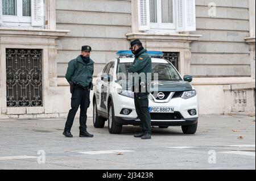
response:
<path fill-rule="evenodd" d="M 128 78 L 128 70 L 132 63 L 118 64 L 117 79 L 123 77 L 125 73 Z M 171 64 L 152 63 L 152 81 L 154 81 L 154 73 L 158 73 L 158 81 L 182 81 L 180 75 Z"/>

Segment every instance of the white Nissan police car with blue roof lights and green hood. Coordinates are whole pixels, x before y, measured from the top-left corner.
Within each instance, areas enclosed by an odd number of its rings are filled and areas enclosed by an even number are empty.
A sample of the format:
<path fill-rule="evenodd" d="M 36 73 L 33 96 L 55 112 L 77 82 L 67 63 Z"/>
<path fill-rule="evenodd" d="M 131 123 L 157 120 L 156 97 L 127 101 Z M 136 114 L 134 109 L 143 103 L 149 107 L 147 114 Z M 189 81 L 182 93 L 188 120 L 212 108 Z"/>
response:
<path fill-rule="evenodd" d="M 152 60 L 152 73 L 158 73 L 158 80 L 152 76 L 151 94 L 148 96 L 151 125 L 159 128 L 181 126 L 183 133 L 195 134 L 199 116 L 199 105 L 192 77 L 181 78 L 175 67 L 162 57 L 162 52 L 148 52 Z M 96 80 L 93 92 L 93 125 L 103 128 L 108 120 L 109 132 L 122 132 L 123 125 L 141 125 L 135 111 L 133 92 L 122 88 L 127 82 L 120 75 L 128 74 L 134 58 L 130 51 L 117 52 L 115 58 L 106 64 Z M 158 57 L 158 58 L 156 58 Z M 127 76 L 128 77 L 128 76 Z"/>

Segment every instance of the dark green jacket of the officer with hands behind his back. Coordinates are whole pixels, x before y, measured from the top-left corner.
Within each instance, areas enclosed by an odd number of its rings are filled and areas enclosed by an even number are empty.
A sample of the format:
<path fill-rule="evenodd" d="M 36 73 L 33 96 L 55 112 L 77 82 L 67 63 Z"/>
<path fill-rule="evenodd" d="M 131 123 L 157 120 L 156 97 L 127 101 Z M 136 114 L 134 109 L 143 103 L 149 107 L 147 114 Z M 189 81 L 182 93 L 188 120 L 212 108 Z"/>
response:
<path fill-rule="evenodd" d="M 78 56 L 77 58 L 68 62 L 68 70 L 65 78 L 68 82 L 80 83 L 83 87 L 89 86 L 92 82 L 94 71 L 94 62 L 92 59 L 88 63 L 82 61 L 82 58 Z"/>

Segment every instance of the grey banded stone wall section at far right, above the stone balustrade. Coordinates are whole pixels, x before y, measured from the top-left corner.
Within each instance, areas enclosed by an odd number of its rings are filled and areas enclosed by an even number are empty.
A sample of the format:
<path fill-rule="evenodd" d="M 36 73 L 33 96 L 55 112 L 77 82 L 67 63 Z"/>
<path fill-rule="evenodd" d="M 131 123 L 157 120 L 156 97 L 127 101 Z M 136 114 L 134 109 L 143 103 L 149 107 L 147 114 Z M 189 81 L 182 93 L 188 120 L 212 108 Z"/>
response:
<path fill-rule="evenodd" d="M 216 16 L 209 16 L 210 2 Z M 250 77 L 248 0 L 196 0 L 196 32 L 191 45 L 191 73 L 195 77 Z"/>

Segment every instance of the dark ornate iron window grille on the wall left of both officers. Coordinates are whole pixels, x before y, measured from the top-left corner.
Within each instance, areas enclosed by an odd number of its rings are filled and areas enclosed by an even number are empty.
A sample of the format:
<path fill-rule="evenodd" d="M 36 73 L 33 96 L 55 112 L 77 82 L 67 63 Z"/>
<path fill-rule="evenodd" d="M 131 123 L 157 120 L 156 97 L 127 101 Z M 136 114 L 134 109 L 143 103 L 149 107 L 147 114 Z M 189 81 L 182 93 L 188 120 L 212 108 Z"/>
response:
<path fill-rule="evenodd" d="M 7 107 L 42 107 L 42 50 L 6 49 Z"/>

